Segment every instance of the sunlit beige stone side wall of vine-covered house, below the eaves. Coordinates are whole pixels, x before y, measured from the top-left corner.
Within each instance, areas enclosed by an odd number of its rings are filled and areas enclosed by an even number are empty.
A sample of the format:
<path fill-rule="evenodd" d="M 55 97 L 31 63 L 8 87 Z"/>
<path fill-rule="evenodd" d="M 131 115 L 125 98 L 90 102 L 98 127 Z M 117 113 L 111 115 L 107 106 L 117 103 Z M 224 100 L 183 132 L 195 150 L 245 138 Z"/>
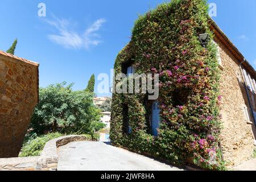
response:
<path fill-rule="evenodd" d="M 217 40 L 216 40 L 217 41 Z M 229 166 L 249 159 L 254 150 L 255 125 L 238 60 L 218 42 L 223 69 L 221 71 L 222 150 Z M 250 93 L 253 96 L 253 93 Z M 255 97 L 255 94 L 254 94 Z M 255 100 L 256 101 L 256 100 Z M 250 121 L 246 121 L 243 106 Z"/>

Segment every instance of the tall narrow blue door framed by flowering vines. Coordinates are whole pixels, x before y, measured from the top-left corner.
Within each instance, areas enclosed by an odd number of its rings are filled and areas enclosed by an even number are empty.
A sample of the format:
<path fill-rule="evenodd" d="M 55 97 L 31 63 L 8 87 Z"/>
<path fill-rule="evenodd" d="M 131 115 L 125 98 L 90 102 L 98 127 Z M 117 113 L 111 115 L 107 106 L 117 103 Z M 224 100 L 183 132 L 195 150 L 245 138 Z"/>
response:
<path fill-rule="evenodd" d="M 158 136 L 158 128 L 160 124 L 160 109 L 158 105 L 158 101 L 155 101 L 152 104 L 152 134 L 154 136 Z"/>

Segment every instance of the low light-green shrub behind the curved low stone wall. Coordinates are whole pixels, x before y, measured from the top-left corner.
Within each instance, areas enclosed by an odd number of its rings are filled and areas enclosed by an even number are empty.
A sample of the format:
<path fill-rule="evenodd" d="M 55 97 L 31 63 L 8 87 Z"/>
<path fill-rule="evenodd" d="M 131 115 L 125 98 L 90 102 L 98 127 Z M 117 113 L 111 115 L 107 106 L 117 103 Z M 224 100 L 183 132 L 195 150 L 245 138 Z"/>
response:
<path fill-rule="evenodd" d="M 37 137 L 32 140 L 27 140 L 26 143 L 23 144 L 22 150 L 20 151 L 20 157 L 27 156 L 39 156 L 49 140 L 59 138 L 63 136 L 60 133 L 51 133 L 47 135 L 43 135 L 42 137 Z"/>

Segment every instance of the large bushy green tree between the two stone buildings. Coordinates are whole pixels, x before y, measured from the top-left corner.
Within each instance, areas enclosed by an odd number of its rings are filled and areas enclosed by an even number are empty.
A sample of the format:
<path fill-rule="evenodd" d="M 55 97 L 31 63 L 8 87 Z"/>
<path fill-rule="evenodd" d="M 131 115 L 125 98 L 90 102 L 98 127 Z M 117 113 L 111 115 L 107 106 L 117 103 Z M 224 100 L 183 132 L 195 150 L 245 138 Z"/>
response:
<path fill-rule="evenodd" d="M 40 88 L 39 104 L 31 121 L 31 128 L 36 134 L 91 133 L 95 122 L 100 122 L 100 110 L 93 105 L 93 93 L 73 91 L 73 84 L 66 84 L 63 82 Z"/>

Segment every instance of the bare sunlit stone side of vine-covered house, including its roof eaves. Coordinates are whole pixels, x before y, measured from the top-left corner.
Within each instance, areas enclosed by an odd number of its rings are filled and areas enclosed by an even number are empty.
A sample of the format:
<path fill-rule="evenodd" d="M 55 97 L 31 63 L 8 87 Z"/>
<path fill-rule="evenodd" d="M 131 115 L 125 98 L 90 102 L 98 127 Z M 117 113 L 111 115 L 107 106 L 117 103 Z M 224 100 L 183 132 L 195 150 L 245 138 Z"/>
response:
<path fill-rule="evenodd" d="M 230 165 L 249 159 L 256 146 L 256 72 L 213 20 L 221 70 L 222 150 Z"/>

